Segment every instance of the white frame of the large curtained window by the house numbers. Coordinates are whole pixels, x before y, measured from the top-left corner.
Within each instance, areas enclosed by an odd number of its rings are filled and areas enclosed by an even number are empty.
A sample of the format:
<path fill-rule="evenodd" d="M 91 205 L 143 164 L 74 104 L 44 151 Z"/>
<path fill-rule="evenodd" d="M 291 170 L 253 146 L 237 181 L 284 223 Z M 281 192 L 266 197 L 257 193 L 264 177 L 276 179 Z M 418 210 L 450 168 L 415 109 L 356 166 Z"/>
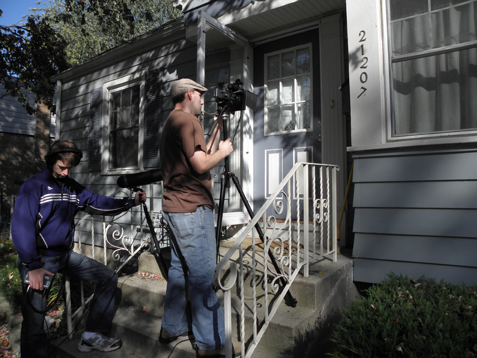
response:
<path fill-rule="evenodd" d="M 461 130 L 451 130 L 451 131 L 439 131 L 439 132 L 428 132 L 428 133 L 409 133 L 402 135 L 395 135 L 393 133 L 394 128 L 394 108 L 393 108 L 393 87 L 392 87 L 392 46 L 391 46 L 391 17 L 390 10 L 388 6 L 389 0 L 381 0 L 381 10 L 382 10 L 382 19 L 383 19 L 383 48 L 384 48 L 384 84 L 385 84 L 385 95 L 387 100 L 386 103 L 386 117 L 387 117 L 387 141 L 388 142 L 399 142 L 406 140 L 424 140 L 421 144 L 433 144 L 433 142 L 427 143 L 426 139 L 444 139 L 445 143 L 453 143 L 455 141 L 461 142 L 459 137 L 466 137 L 465 142 L 477 141 L 477 128 L 470 129 L 461 129 Z M 463 4 L 463 3 L 462 3 Z M 461 5 L 461 4 L 460 4 Z M 423 58 L 429 54 L 438 55 L 441 53 L 447 52 L 446 49 L 453 48 L 455 51 L 463 50 L 468 47 L 468 44 L 458 44 L 440 47 L 436 49 L 424 50 L 420 52 L 414 52 L 411 54 L 405 54 L 397 56 L 396 58 L 399 61 L 405 61 L 406 59 L 414 58 Z M 474 46 L 472 46 L 474 47 Z M 395 62 L 398 63 L 398 62 Z M 448 138 L 448 139 L 446 139 Z"/>

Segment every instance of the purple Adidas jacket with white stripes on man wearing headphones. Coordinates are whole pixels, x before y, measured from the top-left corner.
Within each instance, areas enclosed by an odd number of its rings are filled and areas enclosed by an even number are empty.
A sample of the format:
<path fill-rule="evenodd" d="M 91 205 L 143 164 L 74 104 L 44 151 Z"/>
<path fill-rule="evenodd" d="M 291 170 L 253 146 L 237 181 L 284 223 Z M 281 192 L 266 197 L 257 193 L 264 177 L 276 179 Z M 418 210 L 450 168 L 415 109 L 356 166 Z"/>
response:
<path fill-rule="evenodd" d="M 116 215 L 133 206 L 133 199 L 95 195 L 68 176 L 59 181 L 45 166 L 20 187 L 12 239 L 20 260 L 30 271 L 35 270 L 41 267 L 40 254 L 56 256 L 68 251 L 70 229 L 78 211 Z"/>

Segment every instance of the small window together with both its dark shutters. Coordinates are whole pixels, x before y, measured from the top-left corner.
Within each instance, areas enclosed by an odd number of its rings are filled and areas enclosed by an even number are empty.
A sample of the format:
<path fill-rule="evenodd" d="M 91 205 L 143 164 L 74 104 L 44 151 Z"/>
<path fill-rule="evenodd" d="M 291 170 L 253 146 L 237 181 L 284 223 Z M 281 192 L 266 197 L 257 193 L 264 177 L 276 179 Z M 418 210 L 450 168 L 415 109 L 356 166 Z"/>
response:
<path fill-rule="evenodd" d="M 162 69 L 142 70 L 91 91 L 89 169 L 116 174 L 158 168 Z"/>

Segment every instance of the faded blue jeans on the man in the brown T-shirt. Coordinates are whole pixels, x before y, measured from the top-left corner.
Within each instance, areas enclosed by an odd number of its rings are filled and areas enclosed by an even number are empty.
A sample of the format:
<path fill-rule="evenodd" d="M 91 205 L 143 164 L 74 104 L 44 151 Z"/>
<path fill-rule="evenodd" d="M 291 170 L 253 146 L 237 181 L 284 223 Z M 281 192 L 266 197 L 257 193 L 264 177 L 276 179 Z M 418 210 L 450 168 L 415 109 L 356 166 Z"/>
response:
<path fill-rule="evenodd" d="M 213 290 L 215 233 L 212 210 L 194 213 L 162 212 L 171 228 L 171 268 L 167 281 L 162 328 L 178 336 L 187 331 L 187 293 L 192 311 L 192 331 L 199 349 L 225 345 L 223 310 Z"/>

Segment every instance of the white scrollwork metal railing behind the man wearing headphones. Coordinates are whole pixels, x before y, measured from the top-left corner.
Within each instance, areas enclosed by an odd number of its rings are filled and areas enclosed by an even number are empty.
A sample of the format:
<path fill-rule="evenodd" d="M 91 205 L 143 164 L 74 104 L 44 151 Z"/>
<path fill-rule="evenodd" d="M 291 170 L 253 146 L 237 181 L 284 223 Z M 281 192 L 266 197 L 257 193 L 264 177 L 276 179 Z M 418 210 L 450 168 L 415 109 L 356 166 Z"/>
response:
<path fill-rule="evenodd" d="M 118 189 L 116 192 L 114 192 L 112 195 L 110 195 L 110 198 L 113 198 L 117 196 L 119 193 L 126 194 L 128 193 L 124 192 L 123 189 Z M 151 191 L 152 193 L 152 191 Z M 129 196 L 129 195 L 128 195 Z M 150 201 L 153 200 L 153 198 L 149 199 Z M 118 267 L 116 268 L 116 271 L 119 271 L 124 265 L 127 264 L 128 261 L 132 259 L 134 255 L 136 255 L 138 252 L 143 250 L 144 245 L 149 243 L 152 245 L 150 238 L 146 238 L 146 234 L 150 233 L 149 228 L 144 228 L 144 225 L 142 224 L 144 221 L 144 213 L 142 211 L 142 206 L 139 206 L 140 208 L 139 211 L 139 220 L 137 220 L 137 212 L 133 211 L 133 208 L 129 209 L 127 212 L 121 213 L 119 216 L 114 216 L 110 217 L 111 219 L 109 221 L 106 221 L 106 217 L 102 216 L 102 223 L 103 223 L 103 244 L 102 244 L 102 249 L 103 249 L 103 263 L 107 265 L 107 251 L 108 250 L 113 250 L 111 254 L 111 258 L 115 261 L 119 261 L 125 257 L 125 259 L 119 263 Z M 124 215 L 130 215 L 130 220 L 128 224 L 125 224 L 126 226 L 129 226 L 129 234 L 125 233 L 124 228 L 118 224 L 114 223 L 114 221 L 117 221 L 118 218 L 124 216 Z M 136 214 L 136 217 L 135 217 Z M 163 225 L 163 220 L 160 214 L 154 214 L 153 212 L 150 212 L 150 215 L 152 216 L 152 221 L 154 224 L 155 228 L 160 228 L 161 225 Z M 91 257 L 93 259 L 96 259 L 95 257 L 95 241 L 94 241 L 94 224 L 95 224 L 95 219 L 94 217 L 101 217 L 101 215 L 96 215 L 93 216 L 91 214 L 85 215 L 83 218 L 81 218 L 76 224 L 76 232 L 78 233 L 77 239 L 78 239 L 78 246 L 77 250 L 81 254 L 82 253 L 82 232 L 87 231 L 87 229 L 82 229 L 83 225 L 90 225 L 90 232 L 91 232 Z M 135 223 L 136 220 L 136 223 Z M 100 220 L 101 221 L 101 220 Z M 96 220 L 98 222 L 98 220 Z M 113 230 L 110 233 L 110 229 L 113 228 L 113 225 L 115 226 L 120 226 L 120 229 Z M 137 238 L 139 236 L 139 238 Z M 111 239 L 110 239 L 110 238 Z M 161 238 L 164 239 L 164 238 Z M 161 246 L 162 244 L 168 245 L 168 243 L 164 243 L 161 241 Z M 99 261 L 99 260 L 98 260 Z M 66 276 L 66 283 L 65 283 L 65 290 L 66 290 L 66 311 L 67 311 L 67 325 L 68 325 L 68 334 L 69 334 L 69 339 L 73 338 L 73 335 L 71 334 L 73 332 L 74 327 L 76 326 L 77 322 L 79 322 L 83 318 L 84 314 L 84 309 L 86 305 L 89 303 L 89 301 L 93 298 L 91 295 L 88 298 L 85 298 L 84 296 L 84 288 L 83 288 L 83 282 L 81 282 L 81 305 L 80 307 L 74 312 L 71 312 L 71 290 L 70 290 L 70 280 L 69 277 Z"/>

